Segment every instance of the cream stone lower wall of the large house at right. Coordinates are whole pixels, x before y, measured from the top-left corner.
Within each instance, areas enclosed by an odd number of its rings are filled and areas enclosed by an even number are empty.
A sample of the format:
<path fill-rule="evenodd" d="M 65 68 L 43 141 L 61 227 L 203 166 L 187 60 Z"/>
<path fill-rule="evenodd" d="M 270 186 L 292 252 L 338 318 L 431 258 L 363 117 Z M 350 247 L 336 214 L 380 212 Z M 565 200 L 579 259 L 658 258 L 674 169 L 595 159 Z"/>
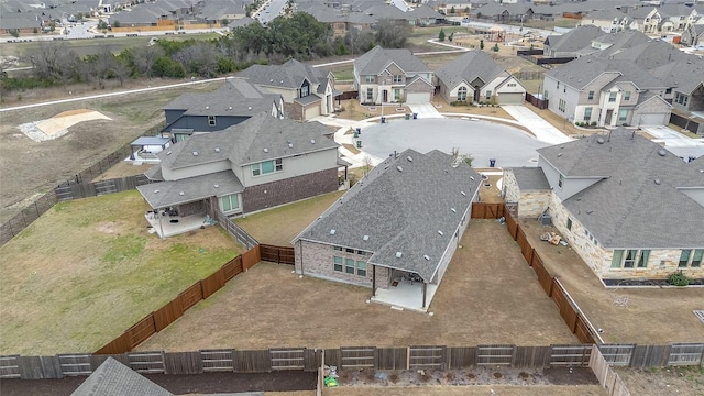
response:
<path fill-rule="evenodd" d="M 645 268 L 612 268 L 614 250 L 605 249 L 595 239 L 590 239 L 584 226 L 561 205 L 556 194 L 551 195 L 550 215 L 552 223 L 568 240 L 572 249 L 586 265 L 602 279 L 663 279 L 675 271 L 683 270 L 689 277 L 704 278 L 704 267 L 679 268 L 681 249 L 650 250 L 648 266 Z M 568 230 L 568 217 L 572 219 L 572 230 Z M 636 248 L 634 248 L 636 249 Z"/>

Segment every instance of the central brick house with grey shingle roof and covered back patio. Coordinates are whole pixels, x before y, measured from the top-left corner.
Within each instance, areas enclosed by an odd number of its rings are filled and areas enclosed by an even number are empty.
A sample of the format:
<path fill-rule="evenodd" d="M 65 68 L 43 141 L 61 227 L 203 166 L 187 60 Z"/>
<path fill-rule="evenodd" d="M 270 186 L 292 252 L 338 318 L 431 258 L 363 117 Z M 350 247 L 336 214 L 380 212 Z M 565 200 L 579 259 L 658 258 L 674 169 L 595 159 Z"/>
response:
<path fill-rule="evenodd" d="M 296 272 L 426 311 L 477 200 L 481 177 L 439 151 L 391 156 L 292 242 Z"/>

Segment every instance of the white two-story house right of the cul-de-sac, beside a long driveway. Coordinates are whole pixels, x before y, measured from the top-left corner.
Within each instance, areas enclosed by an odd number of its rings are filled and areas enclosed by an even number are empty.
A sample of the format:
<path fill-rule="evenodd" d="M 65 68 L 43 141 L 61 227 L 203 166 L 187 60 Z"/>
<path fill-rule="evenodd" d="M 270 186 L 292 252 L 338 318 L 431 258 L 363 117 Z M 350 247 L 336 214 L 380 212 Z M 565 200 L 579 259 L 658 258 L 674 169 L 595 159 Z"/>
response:
<path fill-rule="evenodd" d="M 585 56 L 544 75 L 548 109 L 570 122 L 667 125 L 666 84 L 630 59 Z"/>

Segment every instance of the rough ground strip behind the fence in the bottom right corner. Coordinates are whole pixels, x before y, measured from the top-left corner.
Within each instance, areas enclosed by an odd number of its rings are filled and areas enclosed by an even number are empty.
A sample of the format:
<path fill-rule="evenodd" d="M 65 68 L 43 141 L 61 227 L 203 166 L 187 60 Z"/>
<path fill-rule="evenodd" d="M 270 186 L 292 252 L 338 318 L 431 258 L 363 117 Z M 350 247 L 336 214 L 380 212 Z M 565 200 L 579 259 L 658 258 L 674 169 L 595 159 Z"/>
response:
<path fill-rule="evenodd" d="M 673 366 L 662 369 L 614 367 L 631 395 L 700 396 L 704 395 L 704 367 Z"/>

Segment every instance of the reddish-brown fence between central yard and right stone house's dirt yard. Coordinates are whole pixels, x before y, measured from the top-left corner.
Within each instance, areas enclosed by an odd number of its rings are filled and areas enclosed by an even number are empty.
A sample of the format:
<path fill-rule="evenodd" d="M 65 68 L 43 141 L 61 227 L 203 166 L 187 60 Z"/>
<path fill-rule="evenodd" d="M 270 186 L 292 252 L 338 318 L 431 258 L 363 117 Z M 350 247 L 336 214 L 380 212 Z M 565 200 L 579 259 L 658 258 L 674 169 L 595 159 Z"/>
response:
<path fill-rule="evenodd" d="M 546 292 L 548 297 L 551 297 L 554 304 L 560 309 L 560 316 L 570 328 L 570 331 L 576 336 L 580 342 L 584 343 L 603 343 L 601 337 L 596 332 L 596 329 L 590 323 L 588 319 L 582 312 L 574 299 L 564 289 L 560 280 L 550 275 L 546 270 L 542 258 L 538 252 L 530 245 L 526 233 L 520 228 L 516 220 L 510 216 L 507 209 L 504 210 L 506 219 L 506 230 L 510 237 L 518 243 L 520 253 L 526 260 L 526 263 L 532 267 L 538 276 L 538 283 Z"/>

